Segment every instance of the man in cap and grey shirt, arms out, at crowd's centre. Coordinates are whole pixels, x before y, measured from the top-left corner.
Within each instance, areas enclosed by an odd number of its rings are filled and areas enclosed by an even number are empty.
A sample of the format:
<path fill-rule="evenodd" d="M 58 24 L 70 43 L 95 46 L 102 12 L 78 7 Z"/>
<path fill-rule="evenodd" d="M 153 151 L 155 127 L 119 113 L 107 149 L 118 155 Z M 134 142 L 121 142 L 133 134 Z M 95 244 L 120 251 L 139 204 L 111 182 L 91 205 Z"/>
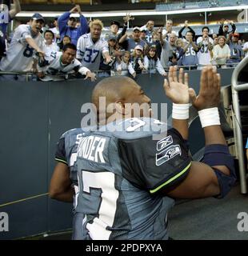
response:
<path fill-rule="evenodd" d="M 125 50 L 130 51 L 131 54 L 133 54 L 135 46 L 142 46 L 142 49 L 146 49 L 147 44 L 140 38 L 140 33 L 140 28 L 135 26 L 133 28 L 132 38 L 127 38 L 127 34 L 125 34 L 119 40 L 119 43 L 122 44 Z"/>

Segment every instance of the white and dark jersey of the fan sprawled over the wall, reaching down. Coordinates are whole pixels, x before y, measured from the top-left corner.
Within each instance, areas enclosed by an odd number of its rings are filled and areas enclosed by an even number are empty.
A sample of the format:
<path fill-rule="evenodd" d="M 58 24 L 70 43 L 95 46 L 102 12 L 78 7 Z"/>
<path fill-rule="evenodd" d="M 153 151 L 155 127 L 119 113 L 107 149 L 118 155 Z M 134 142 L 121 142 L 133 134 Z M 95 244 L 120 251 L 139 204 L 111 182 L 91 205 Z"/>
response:
<path fill-rule="evenodd" d="M 52 52 L 45 56 L 45 61 L 38 62 L 38 70 L 46 74 L 42 81 L 60 81 L 67 78 L 69 73 L 79 72 L 86 75 L 88 70 L 74 58 L 70 64 L 62 63 L 62 52 Z"/>

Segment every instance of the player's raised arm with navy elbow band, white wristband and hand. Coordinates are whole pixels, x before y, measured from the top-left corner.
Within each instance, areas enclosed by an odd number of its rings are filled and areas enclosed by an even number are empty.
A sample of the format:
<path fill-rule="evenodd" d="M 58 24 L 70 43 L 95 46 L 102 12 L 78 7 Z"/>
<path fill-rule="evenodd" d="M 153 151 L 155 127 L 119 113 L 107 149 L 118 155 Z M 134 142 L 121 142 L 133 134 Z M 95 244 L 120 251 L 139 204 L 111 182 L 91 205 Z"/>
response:
<path fill-rule="evenodd" d="M 189 89 L 189 94 L 204 129 L 205 163 L 192 162 L 186 178 L 178 186 L 167 190 L 166 194 L 173 198 L 222 198 L 229 192 L 236 177 L 233 158 L 228 152 L 218 117 L 220 75 L 212 66 L 205 67 L 199 95 L 196 96 L 193 89 Z"/>

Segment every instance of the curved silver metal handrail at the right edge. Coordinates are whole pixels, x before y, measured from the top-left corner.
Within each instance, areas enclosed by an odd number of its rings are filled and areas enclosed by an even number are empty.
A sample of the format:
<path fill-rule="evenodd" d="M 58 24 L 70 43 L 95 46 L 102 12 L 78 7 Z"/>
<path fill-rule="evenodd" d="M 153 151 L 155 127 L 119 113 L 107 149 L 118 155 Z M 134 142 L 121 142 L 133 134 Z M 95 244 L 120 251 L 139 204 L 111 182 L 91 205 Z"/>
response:
<path fill-rule="evenodd" d="M 248 64 L 248 57 L 244 58 L 242 62 L 239 62 L 238 66 L 234 69 L 231 85 L 232 85 L 232 98 L 234 106 L 234 114 L 236 118 L 233 118 L 234 122 L 234 141 L 237 153 L 238 153 L 238 166 L 239 166 L 239 175 L 240 175 L 240 186 L 241 193 L 247 193 L 247 184 L 246 184 L 246 169 L 245 169 L 245 159 L 244 159 L 244 148 L 243 148 L 243 138 L 242 138 L 242 128 L 241 128 L 241 114 L 240 106 L 238 100 L 238 91 L 248 90 L 248 83 L 238 85 L 238 75 L 242 69 Z"/>

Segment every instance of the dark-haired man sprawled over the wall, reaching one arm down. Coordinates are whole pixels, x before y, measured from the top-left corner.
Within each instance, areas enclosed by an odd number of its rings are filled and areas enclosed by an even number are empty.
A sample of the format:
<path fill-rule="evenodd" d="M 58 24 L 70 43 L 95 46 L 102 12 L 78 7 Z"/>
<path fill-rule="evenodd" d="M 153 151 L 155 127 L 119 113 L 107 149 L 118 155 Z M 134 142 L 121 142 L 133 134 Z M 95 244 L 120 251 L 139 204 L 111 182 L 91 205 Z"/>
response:
<path fill-rule="evenodd" d="M 64 46 L 63 52 L 53 52 L 45 55 L 45 58 L 39 58 L 38 78 L 42 81 L 62 81 L 74 71 L 86 76 L 85 79 L 90 78 L 94 82 L 95 74 L 78 62 L 75 58 L 76 53 L 77 47 L 68 43 Z"/>

